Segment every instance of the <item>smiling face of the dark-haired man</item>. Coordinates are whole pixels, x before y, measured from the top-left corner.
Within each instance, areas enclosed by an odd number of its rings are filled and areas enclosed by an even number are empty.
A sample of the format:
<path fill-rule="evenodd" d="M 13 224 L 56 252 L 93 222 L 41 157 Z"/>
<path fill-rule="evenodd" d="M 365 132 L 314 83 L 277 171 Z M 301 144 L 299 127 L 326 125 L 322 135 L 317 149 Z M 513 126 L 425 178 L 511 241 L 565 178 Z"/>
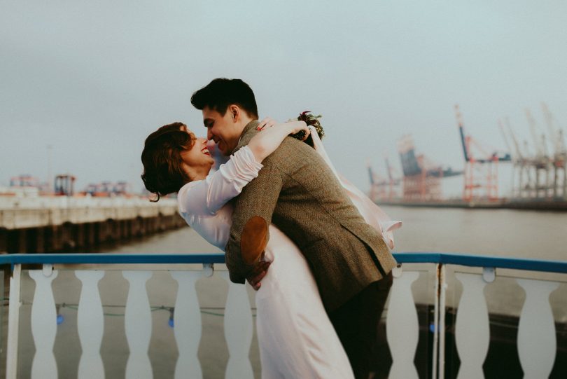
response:
<path fill-rule="evenodd" d="M 205 106 L 203 109 L 203 123 L 207 128 L 207 139 L 213 140 L 223 155 L 229 156 L 236 148 L 242 132 L 230 109 L 225 116 Z"/>

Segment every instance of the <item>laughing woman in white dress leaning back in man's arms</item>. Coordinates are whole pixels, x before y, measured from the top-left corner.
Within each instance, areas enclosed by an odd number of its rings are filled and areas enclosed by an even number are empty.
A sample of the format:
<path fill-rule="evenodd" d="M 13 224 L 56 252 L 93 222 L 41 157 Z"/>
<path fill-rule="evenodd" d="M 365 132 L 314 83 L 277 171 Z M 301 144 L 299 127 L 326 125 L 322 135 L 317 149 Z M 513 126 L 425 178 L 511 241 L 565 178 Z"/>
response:
<path fill-rule="evenodd" d="M 224 249 L 232 222 L 230 200 L 258 176 L 262 160 L 284 138 L 304 131 L 314 148 L 332 167 L 317 131 L 303 121 L 276 124 L 267 118 L 247 146 L 209 174 L 215 164 L 207 140 L 197 138 L 183 123 L 162 126 L 146 139 L 141 160 L 142 179 L 157 196 L 178 193 L 179 212 L 205 240 Z M 338 177 L 338 175 L 337 175 Z M 340 178 L 345 191 L 370 225 L 390 247 L 391 231 L 399 227 L 357 188 Z M 258 265 L 262 272 L 255 287 L 258 344 L 262 378 L 353 378 L 349 359 L 323 308 L 307 261 L 295 244 L 275 226 L 269 226 L 269 242 Z M 293 273 L 293 274 L 292 274 Z M 290 277 L 293 275 L 293 277 Z"/>

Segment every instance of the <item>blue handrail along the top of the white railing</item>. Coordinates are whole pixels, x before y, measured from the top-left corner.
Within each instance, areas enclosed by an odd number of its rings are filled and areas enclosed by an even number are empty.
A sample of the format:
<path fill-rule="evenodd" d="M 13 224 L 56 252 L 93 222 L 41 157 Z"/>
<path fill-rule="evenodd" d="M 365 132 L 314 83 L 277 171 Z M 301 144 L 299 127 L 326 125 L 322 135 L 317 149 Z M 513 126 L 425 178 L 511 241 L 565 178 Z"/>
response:
<path fill-rule="evenodd" d="M 399 263 L 441 263 L 460 266 L 512 268 L 516 270 L 567 273 L 567 261 L 544 261 L 500 256 L 475 256 L 455 253 L 400 252 L 393 254 Z M 17 264 L 174 264 L 225 263 L 224 254 L 5 254 L 0 265 Z"/>

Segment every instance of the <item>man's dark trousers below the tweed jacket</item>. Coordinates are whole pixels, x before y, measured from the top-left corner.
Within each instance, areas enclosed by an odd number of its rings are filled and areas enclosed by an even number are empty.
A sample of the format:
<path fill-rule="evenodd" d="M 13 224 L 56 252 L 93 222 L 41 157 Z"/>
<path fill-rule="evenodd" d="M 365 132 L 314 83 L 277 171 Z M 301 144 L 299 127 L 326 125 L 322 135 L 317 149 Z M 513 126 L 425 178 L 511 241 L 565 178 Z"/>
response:
<path fill-rule="evenodd" d="M 368 287 L 330 312 L 330 320 L 351 362 L 356 379 L 367 379 L 372 354 L 386 354 L 387 345 L 377 340 L 378 324 L 388 293 L 392 287 L 392 273 Z M 384 342 L 384 341 L 381 341 Z M 384 347 L 382 349 L 377 348 Z"/>

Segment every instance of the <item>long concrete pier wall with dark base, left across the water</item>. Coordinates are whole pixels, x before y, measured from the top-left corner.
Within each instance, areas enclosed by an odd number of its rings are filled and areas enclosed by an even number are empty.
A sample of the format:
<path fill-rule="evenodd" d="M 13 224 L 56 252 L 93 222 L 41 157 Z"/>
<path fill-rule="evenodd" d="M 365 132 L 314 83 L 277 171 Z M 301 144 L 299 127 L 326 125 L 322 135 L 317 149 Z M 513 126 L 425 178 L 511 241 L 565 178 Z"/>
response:
<path fill-rule="evenodd" d="M 181 226 L 174 199 L 0 198 L 0 254 L 91 248 Z"/>

